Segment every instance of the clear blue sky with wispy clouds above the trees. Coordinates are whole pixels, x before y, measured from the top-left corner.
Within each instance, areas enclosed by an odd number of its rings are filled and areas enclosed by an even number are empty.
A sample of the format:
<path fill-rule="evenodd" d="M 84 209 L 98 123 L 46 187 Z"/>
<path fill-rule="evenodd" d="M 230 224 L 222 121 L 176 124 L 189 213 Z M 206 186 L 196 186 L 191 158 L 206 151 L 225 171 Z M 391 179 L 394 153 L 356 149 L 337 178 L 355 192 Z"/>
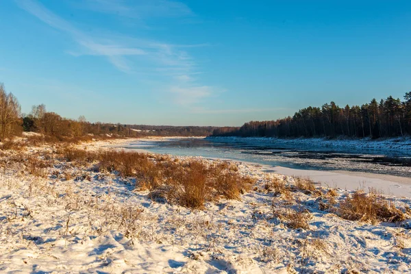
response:
<path fill-rule="evenodd" d="M 411 90 L 411 1 L 2 0 L 0 34 L 26 113 L 242 125 Z"/>

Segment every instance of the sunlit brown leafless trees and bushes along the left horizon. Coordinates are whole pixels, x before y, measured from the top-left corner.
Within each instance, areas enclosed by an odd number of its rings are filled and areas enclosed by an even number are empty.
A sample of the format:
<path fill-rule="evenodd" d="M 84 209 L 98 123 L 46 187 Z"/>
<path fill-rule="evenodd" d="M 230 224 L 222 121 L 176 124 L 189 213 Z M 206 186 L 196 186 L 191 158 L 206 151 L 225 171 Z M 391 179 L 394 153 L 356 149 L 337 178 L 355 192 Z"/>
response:
<path fill-rule="evenodd" d="M 47 112 L 45 105 L 34 105 L 32 112 L 21 114 L 18 100 L 5 91 L 0 83 L 0 141 L 22 132 L 38 132 L 56 140 L 81 136 L 209 136 L 216 127 L 195 126 L 151 126 L 123 125 L 113 123 L 90 123 L 84 116 L 79 119 L 66 119 L 55 112 Z"/>

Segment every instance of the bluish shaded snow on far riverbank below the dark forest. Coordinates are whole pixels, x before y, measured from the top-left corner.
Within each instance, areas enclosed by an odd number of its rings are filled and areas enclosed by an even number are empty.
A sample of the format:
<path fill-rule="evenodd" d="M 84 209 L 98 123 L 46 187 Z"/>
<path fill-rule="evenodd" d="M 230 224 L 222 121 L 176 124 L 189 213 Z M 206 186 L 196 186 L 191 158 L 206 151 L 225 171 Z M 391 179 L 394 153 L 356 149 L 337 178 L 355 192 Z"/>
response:
<path fill-rule="evenodd" d="M 264 137 L 208 137 L 213 140 L 219 140 L 220 142 L 260 142 L 264 143 L 277 143 L 286 145 L 303 145 L 305 147 L 323 147 L 330 149 L 353 149 L 354 151 L 359 149 L 373 149 L 379 151 L 401 151 L 402 153 L 411 154 L 411 138 L 386 138 L 376 139 L 371 138 L 364 139 L 327 139 L 327 138 L 293 138 L 293 139 L 281 139 L 281 138 L 264 138 Z"/>

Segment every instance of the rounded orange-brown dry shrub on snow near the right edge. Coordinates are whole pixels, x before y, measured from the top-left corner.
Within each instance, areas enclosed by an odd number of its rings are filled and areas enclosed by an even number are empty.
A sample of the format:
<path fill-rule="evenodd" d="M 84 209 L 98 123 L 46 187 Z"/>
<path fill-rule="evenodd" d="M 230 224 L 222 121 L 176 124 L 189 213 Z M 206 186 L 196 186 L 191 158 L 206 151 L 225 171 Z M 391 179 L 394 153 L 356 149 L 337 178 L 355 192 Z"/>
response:
<path fill-rule="evenodd" d="M 377 223 L 398 222 L 406 219 L 405 214 L 396 208 L 391 201 L 378 195 L 373 189 L 368 194 L 358 190 L 340 203 L 338 214 L 350 221 Z"/>

